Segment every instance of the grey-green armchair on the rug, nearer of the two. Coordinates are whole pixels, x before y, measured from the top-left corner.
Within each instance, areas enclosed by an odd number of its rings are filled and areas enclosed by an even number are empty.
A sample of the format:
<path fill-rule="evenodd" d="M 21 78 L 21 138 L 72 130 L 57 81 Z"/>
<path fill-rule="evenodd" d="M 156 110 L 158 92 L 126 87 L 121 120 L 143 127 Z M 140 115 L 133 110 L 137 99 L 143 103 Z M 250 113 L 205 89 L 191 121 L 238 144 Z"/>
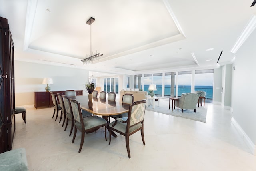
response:
<path fill-rule="evenodd" d="M 183 112 L 183 109 L 194 109 L 196 112 L 196 104 L 198 102 L 199 95 L 197 93 L 184 93 L 179 99 L 179 106 L 175 103 L 175 106 L 179 107 Z"/>

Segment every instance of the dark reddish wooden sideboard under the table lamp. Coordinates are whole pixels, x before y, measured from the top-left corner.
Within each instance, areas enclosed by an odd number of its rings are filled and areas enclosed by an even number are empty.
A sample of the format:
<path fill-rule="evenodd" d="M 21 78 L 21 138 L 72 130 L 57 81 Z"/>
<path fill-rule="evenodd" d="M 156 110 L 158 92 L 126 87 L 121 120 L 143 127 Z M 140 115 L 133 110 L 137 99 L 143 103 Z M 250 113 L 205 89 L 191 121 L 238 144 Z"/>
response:
<path fill-rule="evenodd" d="M 83 95 L 83 90 L 75 90 L 76 95 Z M 60 95 L 65 95 L 65 91 L 50 91 L 53 92 L 54 94 L 60 93 Z M 35 102 L 35 108 L 37 109 L 38 107 L 42 106 L 53 106 L 52 103 L 52 97 L 50 95 L 50 92 L 48 91 L 36 91 L 34 92 L 34 102 Z"/>

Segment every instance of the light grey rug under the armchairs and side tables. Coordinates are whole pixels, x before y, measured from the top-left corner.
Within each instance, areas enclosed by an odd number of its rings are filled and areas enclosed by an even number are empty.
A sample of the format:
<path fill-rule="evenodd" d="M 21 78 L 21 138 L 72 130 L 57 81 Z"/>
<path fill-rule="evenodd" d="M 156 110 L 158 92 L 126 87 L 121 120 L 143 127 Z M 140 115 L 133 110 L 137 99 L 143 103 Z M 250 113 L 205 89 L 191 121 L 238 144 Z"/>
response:
<path fill-rule="evenodd" d="M 171 101 L 172 103 L 172 101 Z M 177 107 L 175 107 L 175 110 L 172 111 L 172 104 L 170 105 L 169 109 L 169 99 L 160 99 L 159 107 L 157 106 L 157 102 L 155 105 L 155 108 L 153 109 L 152 105 L 146 107 L 146 110 L 148 111 L 154 111 L 158 113 L 163 113 L 166 115 L 172 115 L 176 117 L 183 117 L 186 119 L 191 119 L 194 121 L 200 121 L 200 122 L 206 122 L 206 114 L 207 114 L 207 103 L 205 103 L 205 107 L 201 107 L 199 105 L 196 106 L 196 113 L 193 109 L 184 109 L 183 113 L 181 112 L 181 109 L 179 108 L 179 111 L 177 111 Z"/>

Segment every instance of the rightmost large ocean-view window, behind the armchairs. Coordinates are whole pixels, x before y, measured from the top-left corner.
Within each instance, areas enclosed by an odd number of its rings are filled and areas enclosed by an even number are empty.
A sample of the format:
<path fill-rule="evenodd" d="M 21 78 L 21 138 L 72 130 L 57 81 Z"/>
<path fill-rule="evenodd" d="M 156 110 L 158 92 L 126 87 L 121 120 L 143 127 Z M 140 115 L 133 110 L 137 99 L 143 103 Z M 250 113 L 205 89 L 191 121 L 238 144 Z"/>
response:
<path fill-rule="evenodd" d="M 207 99 L 212 99 L 213 76 L 213 69 L 195 71 L 195 91 L 205 91 Z"/>

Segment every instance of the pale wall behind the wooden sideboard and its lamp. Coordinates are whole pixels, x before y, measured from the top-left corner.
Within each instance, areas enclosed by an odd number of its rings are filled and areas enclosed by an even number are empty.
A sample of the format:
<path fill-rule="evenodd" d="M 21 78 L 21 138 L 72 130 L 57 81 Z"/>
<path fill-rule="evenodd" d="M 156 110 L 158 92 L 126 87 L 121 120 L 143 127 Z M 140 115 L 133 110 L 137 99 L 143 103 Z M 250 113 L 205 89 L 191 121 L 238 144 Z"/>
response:
<path fill-rule="evenodd" d="M 34 105 L 34 91 L 45 91 L 44 77 L 53 79 L 51 91 L 84 90 L 88 70 L 14 61 L 15 105 Z M 86 95 L 86 92 L 83 92 Z"/>

